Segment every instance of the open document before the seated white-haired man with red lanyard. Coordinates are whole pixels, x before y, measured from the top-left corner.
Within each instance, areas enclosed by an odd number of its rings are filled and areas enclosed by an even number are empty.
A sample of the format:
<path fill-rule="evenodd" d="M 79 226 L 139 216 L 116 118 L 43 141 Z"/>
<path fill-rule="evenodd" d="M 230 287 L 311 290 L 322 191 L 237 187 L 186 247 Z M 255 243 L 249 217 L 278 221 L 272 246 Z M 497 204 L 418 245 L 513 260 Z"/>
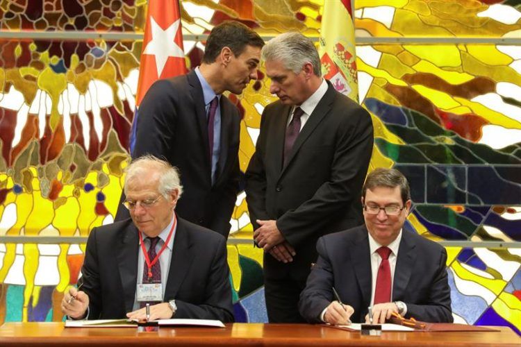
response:
<path fill-rule="evenodd" d="M 202 326 L 224 328 L 222 321 L 211 319 L 158 319 L 149 321 L 159 326 Z M 129 319 L 99 319 L 94 321 L 65 321 L 65 328 L 133 328 L 138 326 L 138 321 Z"/>

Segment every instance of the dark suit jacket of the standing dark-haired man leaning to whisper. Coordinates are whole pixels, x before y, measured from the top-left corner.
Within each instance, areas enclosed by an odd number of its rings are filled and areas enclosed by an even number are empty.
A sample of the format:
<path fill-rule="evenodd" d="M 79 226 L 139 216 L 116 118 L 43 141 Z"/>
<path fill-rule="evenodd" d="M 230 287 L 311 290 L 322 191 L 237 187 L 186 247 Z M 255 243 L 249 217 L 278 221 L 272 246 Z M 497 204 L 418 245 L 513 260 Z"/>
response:
<path fill-rule="evenodd" d="M 184 192 L 177 214 L 228 237 L 239 190 L 240 115 L 225 96 L 220 110 L 221 153 L 214 185 L 203 90 L 195 71 L 151 85 L 138 111 L 132 158 L 152 154 L 178 167 Z M 118 220 L 121 213 L 129 216 L 124 208 L 117 213 Z"/>

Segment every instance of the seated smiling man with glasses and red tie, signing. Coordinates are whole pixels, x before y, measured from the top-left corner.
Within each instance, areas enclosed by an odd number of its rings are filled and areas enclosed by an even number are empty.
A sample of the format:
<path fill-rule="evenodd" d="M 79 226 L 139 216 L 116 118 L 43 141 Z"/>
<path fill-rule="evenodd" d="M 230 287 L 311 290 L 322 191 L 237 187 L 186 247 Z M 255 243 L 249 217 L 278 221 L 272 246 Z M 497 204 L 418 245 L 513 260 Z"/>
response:
<path fill-rule="evenodd" d="M 369 323 L 372 306 L 374 323 L 385 323 L 392 312 L 451 323 L 445 248 L 402 230 L 411 209 L 406 178 L 395 169 L 372 171 L 362 203 L 365 226 L 318 240 L 318 261 L 299 303 L 302 316 L 310 323 Z"/>

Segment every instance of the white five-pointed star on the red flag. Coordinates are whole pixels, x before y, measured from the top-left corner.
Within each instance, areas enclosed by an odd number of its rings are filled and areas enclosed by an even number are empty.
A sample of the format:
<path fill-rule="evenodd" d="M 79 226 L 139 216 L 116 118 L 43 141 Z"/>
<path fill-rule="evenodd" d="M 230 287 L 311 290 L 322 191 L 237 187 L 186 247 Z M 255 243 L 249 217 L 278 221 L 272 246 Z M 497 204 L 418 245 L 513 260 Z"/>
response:
<path fill-rule="evenodd" d="M 174 41 L 181 19 L 177 19 L 166 30 L 163 30 L 154 20 L 150 18 L 152 24 L 152 40 L 149 41 L 144 48 L 143 54 L 156 56 L 156 68 L 158 70 L 158 78 L 167 63 L 168 57 L 184 58 L 185 53 Z"/>

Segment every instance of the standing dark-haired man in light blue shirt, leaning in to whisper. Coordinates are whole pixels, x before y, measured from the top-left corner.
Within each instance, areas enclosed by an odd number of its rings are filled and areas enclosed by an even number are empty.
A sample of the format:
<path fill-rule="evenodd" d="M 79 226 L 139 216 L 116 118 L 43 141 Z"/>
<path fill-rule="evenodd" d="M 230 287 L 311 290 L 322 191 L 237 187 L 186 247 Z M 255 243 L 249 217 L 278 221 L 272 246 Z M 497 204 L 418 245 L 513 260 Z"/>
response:
<path fill-rule="evenodd" d="M 264 45 L 238 22 L 208 35 L 201 66 L 185 76 L 156 81 L 140 105 L 132 158 L 165 158 L 183 175 L 179 216 L 228 237 L 239 189 L 240 115 L 222 93 L 242 93 L 257 78 Z M 128 217 L 119 208 L 117 220 Z"/>

